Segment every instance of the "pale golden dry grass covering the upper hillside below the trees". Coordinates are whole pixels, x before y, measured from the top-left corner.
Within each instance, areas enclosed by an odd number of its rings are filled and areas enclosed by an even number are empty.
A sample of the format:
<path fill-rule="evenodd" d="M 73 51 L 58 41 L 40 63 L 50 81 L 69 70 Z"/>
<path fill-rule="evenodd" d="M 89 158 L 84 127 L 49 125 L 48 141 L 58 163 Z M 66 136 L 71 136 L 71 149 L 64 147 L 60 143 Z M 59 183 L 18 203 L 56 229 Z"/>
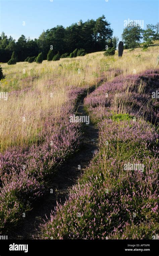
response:
<path fill-rule="evenodd" d="M 0 150 L 38 142 L 45 118 L 52 114 L 56 119 L 60 115 L 60 108 L 67 100 L 66 87 L 92 86 L 103 76 L 111 80 L 115 71 L 110 76 L 109 68 L 123 70 L 124 76 L 155 68 L 158 50 L 159 46 L 149 47 L 147 51 L 124 50 L 122 58 L 118 58 L 117 52 L 113 57 L 97 52 L 59 61 L 45 60 L 42 64 L 1 64 L 6 78 L 0 83 L 0 91 L 8 92 L 8 100 L 0 100 Z"/>

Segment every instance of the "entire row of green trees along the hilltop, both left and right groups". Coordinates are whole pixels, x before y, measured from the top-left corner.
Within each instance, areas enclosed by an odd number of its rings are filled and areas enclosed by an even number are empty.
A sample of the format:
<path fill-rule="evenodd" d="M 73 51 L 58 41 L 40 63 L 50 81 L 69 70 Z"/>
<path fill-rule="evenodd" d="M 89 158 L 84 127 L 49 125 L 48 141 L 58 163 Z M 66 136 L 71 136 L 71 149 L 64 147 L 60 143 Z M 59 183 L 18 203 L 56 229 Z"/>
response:
<path fill-rule="evenodd" d="M 67 28 L 57 25 L 52 29 L 43 31 L 38 39 L 25 38 L 21 35 L 17 42 L 4 32 L 0 36 L 0 62 L 12 64 L 16 61 L 30 62 L 40 54 L 41 59 L 58 60 L 59 57 L 83 56 L 85 53 L 105 51 L 117 47 L 118 38 L 112 37 L 113 30 L 105 16 L 83 22 L 73 23 Z M 148 24 L 146 30 L 136 24 L 129 24 L 122 33 L 124 48 L 136 48 L 140 46 L 141 39 L 145 48 L 152 44 L 153 40 L 159 40 L 159 23 Z M 79 53 L 80 51 L 80 53 Z M 49 57 L 48 57 L 49 56 Z M 14 63 L 13 63 L 14 64 Z"/>

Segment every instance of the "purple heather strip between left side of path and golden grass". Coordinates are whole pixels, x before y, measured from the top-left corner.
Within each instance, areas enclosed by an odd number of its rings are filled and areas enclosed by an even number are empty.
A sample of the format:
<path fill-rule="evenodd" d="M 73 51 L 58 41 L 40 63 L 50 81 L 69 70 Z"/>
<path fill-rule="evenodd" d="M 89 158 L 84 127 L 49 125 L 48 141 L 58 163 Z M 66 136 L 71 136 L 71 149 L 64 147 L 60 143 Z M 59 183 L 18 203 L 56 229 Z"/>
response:
<path fill-rule="evenodd" d="M 69 104 L 61 109 L 57 125 L 53 116 L 45 120 L 41 134 L 44 143 L 33 145 L 25 152 L 15 148 L 1 154 L 1 228 L 16 224 L 22 212 L 33 207 L 32 202 L 45 193 L 55 167 L 80 146 L 81 124 L 70 124 L 68 116 L 74 111 L 78 95 L 83 92 L 80 88 L 68 91 Z"/>

